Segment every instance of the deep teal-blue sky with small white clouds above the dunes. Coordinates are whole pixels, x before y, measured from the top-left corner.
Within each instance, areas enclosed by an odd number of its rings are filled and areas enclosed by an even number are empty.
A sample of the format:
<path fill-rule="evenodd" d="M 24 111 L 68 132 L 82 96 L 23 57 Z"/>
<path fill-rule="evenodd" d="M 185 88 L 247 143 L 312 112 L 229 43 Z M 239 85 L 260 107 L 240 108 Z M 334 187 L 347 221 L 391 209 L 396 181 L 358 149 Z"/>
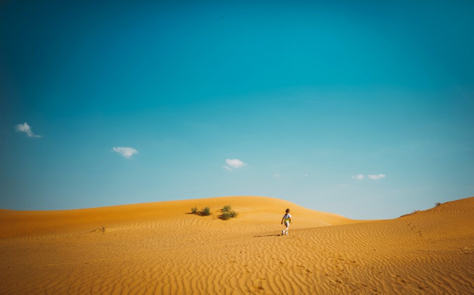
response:
<path fill-rule="evenodd" d="M 0 208 L 474 196 L 473 1 L 136 2 L 0 4 Z"/>

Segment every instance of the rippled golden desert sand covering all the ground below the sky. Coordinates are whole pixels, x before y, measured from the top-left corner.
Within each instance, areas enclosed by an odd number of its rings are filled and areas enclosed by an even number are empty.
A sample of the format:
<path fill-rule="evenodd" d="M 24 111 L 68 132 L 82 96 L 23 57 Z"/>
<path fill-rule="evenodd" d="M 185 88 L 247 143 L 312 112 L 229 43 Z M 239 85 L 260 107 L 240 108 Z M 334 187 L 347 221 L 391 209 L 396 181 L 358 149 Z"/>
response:
<path fill-rule="evenodd" d="M 380 221 L 269 197 L 0 210 L 0 260 L 1 294 L 474 294 L 474 197 Z"/>

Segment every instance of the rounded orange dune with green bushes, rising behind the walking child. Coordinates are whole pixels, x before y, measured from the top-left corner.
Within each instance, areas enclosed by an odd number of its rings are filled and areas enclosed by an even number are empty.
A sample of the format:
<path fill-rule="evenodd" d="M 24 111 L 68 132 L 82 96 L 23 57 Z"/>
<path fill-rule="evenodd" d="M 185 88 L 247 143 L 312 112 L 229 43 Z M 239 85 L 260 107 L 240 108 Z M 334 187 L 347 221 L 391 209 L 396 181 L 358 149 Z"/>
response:
<path fill-rule="evenodd" d="M 77 233 L 94 227 L 151 229 L 163 224 L 190 226 L 210 222 L 216 228 L 219 209 L 231 205 L 239 212 L 240 222 L 275 224 L 287 207 L 298 212 L 298 218 L 305 221 L 305 227 L 319 227 L 354 223 L 343 216 L 306 209 L 289 201 L 272 197 L 237 196 L 211 197 L 178 201 L 161 201 L 130 205 L 107 206 L 74 210 L 55 211 L 0 211 L 0 238 Z M 187 216 L 192 207 L 201 209 L 209 206 L 212 216 L 199 219 Z M 281 217 L 279 217 L 281 219 Z M 301 223 L 300 223 L 301 224 Z M 299 226 L 297 226 L 298 228 Z"/>

